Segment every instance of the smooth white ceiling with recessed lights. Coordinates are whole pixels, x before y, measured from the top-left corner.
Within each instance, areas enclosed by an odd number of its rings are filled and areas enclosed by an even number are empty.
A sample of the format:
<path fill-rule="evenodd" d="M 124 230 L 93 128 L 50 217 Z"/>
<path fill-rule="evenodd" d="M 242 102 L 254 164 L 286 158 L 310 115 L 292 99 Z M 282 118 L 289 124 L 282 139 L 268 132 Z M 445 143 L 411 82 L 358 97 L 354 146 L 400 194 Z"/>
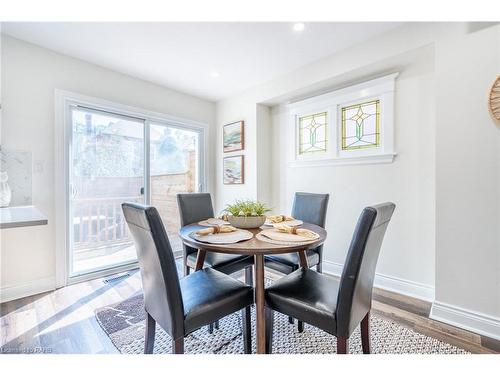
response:
<path fill-rule="evenodd" d="M 4 22 L 2 32 L 124 74 L 219 100 L 387 32 L 398 22 Z"/>

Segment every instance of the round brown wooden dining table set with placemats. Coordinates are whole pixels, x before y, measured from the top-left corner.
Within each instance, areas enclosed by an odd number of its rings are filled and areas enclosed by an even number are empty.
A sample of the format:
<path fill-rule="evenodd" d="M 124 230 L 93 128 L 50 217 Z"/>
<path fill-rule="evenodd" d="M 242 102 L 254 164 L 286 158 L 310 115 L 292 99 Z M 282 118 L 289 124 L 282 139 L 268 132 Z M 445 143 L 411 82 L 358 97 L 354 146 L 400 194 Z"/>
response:
<path fill-rule="evenodd" d="M 319 238 L 308 244 L 276 244 L 258 240 L 255 236 L 266 228 L 248 229 L 254 234 L 253 238 L 233 244 L 212 244 L 207 242 L 196 241 L 189 236 L 190 233 L 204 229 L 198 224 L 190 224 L 181 228 L 180 237 L 182 242 L 192 248 L 198 249 L 198 256 L 196 258 L 196 270 L 203 268 L 205 256 L 207 251 L 225 254 L 240 254 L 240 255 L 253 255 L 255 267 L 255 310 L 257 320 L 257 353 L 265 354 L 266 352 L 266 321 L 264 313 L 264 255 L 270 254 L 286 254 L 297 252 L 299 255 L 300 266 L 308 267 L 306 251 L 314 249 L 321 245 L 326 239 L 326 231 L 320 226 L 304 223 L 300 228 L 312 230 L 319 234 Z"/>

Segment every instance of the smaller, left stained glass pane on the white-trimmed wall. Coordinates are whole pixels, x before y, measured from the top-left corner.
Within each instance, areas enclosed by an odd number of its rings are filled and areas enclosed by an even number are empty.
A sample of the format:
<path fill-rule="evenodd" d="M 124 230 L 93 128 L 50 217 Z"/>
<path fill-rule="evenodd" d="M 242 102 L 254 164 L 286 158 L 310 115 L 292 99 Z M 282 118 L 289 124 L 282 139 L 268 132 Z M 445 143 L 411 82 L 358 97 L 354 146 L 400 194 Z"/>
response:
<path fill-rule="evenodd" d="M 326 112 L 299 117 L 299 155 L 326 152 L 327 128 Z"/>

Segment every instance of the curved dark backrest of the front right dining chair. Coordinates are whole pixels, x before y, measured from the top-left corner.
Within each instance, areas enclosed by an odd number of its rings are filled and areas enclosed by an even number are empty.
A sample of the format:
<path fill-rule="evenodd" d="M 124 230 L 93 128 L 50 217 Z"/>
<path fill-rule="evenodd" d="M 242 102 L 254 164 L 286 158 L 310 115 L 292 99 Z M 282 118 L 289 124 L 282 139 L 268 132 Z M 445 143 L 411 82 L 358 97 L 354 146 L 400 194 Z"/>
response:
<path fill-rule="evenodd" d="M 366 207 L 354 230 L 337 299 L 337 336 L 349 338 L 372 303 L 375 268 L 385 231 L 396 205 Z"/>

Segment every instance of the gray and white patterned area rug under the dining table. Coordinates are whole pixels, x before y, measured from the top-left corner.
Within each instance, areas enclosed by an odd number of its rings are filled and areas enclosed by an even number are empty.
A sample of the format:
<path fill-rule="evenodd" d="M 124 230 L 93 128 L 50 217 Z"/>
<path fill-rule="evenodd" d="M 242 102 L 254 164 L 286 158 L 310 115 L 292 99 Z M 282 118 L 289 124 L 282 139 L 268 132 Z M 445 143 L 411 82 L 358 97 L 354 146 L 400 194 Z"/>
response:
<path fill-rule="evenodd" d="M 142 295 L 134 296 L 116 305 L 96 311 L 96 318 L 123 354 L 144 351 L 145 312 Z M 255 311 L 252 310 L 252 345 L 255 353 Z M 371 342 L 374 354 L 467 354 L 468 352 L 432 337 L 417 333 L 396 322 L 371 317 Z M 361 353 L 359 328 L 349 342 L 351 353 Z M 220 321 L 220 328 L 209 334 L 207 327 L 193 332 L 184 340 L 184 351 L 189 354 L 242 354 L 241 313 L 234 313 Z M 273 353 L 278 354 L 330 354 L 336 351 L 336 339 L 305 325 L 297 331 L 297 323 L 289 324 L 288 317 L 275 313 Z M 172 352 L 171 339 L 160 327 L 156 328 L 154 352 Z"/>

